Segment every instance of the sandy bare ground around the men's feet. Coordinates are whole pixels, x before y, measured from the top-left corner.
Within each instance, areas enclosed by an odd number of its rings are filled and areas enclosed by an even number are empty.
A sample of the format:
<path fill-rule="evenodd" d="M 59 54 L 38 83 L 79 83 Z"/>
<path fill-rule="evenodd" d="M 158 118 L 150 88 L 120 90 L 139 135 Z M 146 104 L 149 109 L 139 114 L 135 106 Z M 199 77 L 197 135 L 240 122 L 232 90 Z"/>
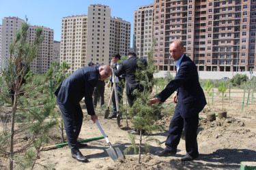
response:
<path fill-rule="evenodd" d="M 216 89 L 214 89 L 216 91 Z M 199 114 L 198 129 L 198 146 L 199 158 L 190 162 L 182 163 L 180 158 L 186 155 L 185 141 L 180 140 L 175 156 L 159 157 L 154 153 L 165 148 L 165 143 L 158 146 L 156 143 L 150 143 L 150 152 L 143 151 L 141 156 L 141 164 L 138 164 L 139 156 L 128 152 L 125 154 L 125 160 L 117 160 L 114 162 L 106 152 L 109 146 L 104 139 L 88 142 L 87 148 L 82 148 L 81 152 L 89 158 L 89 163 L 80 163 L 71 157 L 68 146 L 53 150 L 42 151 L 38 159 L 38 165 L 35 169 L 44 169 L 41 165 L 51 165 L 51 169 L 240 169 L 242 161 L 256 161 L 256 100 L 251 104 L 251 99 L 246 106 L 244 102 L 244 110 L 242 111 L 243 90 L 232 90 L 231 99 L 229 93 L 225 98 L 225 109 L 227 109 L 227 118 L 218 119 L 213 122 L 206 120 L 209 112 L 217 114 L 222 108 L 221 98 L 214 97 L 214 105 L 205 106 L 205 109 Z M 106 90 L 105 103 L 108 103 L 109 90 Z M 207 95 L 205 95 L 207 97 Z M 247 94 L 246 94 L 247 97 Z M 208 98 L 208 97 L 207 97 Z M 246 98 L 247 99 L 247 98 Z M 124 99 L 124 104 L 126 100 Z M 167 100 L 165 105 L 171 103 L 171 98 Z M 210 103 L 212 100 L 210 99 Z M 87 116 L 86 109 L 83 120 L 83 127 L 79 135 L 79 139 L 87 139 L 91 137 L 102 136 L 100 130 Z M 122 120 L 122 126 L 117 126 L 117 120 L 104 119 L 105 109 L 97 107 L 98 121 L 109 136 L 109 141 L 115 148 L 124 151 L 130 146 L 128 139 L 128 131 L 132 128 L 132 124 L 126 120 Z M 152 137 L 164 141 L 167 138 L 167 131 L 171 117 L 163 117 L 159 120 L 165 125 L 166 131 L 156 132 Z M 56 134 L 49 135 L 51 143 L 60 142 Z M 147 135 L 143 139 L 147 139 Z M 59 141 L 57 141 L 59 140 Z M 139 135 L 137 135 L 137 143 L 139 143 Z M 0 162 L 1 163 L 1 162 Z"/>

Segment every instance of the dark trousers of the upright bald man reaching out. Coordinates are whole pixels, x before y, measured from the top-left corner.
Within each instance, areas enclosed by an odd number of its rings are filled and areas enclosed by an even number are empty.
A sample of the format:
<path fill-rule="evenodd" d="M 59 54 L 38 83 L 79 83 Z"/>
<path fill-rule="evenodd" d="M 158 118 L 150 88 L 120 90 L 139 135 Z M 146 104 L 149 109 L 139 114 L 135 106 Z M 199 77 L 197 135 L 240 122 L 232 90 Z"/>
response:
<path fill-rule="evenodd" d="M 177 145 L 180 143 L 180 137 L 182 136 L 182 130 L 184 129 L 186 152 L 190 156 L 198 156 L 197 146 L 197 129 L 199 116 L 192 116 L 188 118 L 182 118 L 180 115 L 180 109 L 178 104 L 175 107 L 173 118 L 169 126 L 169 135 L 165 142 L 165 150 L 176 150 Z"/>

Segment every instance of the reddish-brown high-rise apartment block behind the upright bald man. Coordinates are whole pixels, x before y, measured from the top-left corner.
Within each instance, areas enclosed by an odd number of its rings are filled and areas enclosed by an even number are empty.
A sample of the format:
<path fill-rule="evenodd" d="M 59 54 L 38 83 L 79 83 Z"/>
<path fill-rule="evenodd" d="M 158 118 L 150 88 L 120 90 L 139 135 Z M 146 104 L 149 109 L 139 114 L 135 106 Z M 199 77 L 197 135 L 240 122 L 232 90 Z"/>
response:
<path fill-rule="evenodd" d="M 138 28 L 134 24 L 134 32 Z M 159 70 L 175 71 L 169 44 L 177 40 L 199 71 L 255 69 L 255 33 L 256 0 L 154 0 L 152 36 Z M 137 39 L 133 48 L 144 44 Z"/>

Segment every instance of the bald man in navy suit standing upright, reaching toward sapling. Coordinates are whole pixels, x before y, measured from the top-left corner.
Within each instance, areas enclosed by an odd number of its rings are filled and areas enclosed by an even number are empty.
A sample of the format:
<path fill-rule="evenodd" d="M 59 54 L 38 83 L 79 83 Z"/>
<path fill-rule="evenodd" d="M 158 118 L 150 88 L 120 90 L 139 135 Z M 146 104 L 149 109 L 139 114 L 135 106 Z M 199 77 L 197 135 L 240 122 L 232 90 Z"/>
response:
<path fill-rule="evenodd" d="M 177 103 L 171 124 L 169 135 L 165 142 L 165 150 L 158 151 L 158 156 L 175 155 L 177 145 L 180 143 L 182 130 L 186 140 L 186 156 L 182 161 L 194 160 L 199 156 L 197 147 L 197 128 L 199 122 L 199 112 L 206 105 L 203 89 L 199 84 L 197 67 L 195 63 L 184 54 L 185 48 L 180 41 L 174 41 L 169 47 L 170 55 L 176 61 L 177 74 L 174 80 L 169 82 L 158 96 L 149 101 L 150 105 L 164 102 L 168 97 L 176 93 L 173 97 Z"/>

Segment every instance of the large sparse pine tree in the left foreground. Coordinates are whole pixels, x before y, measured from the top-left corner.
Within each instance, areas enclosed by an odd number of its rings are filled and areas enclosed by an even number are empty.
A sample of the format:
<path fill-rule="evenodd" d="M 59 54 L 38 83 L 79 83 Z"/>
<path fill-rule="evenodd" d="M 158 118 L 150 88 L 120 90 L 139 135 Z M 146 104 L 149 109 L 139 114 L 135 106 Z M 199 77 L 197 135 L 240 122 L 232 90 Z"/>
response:
<path fill-rule="evenodd" d="M 54 107 L 49 102 L 49 84 L 45 83 L 42 75 L 28 71 L 44 40 L 42 27 L 36 29 L 35 39 L 31 42 L 28 41 L 28 33 L 29 24 L 23 22 L 10 44 L 10 57 L 0 80 L 1 101 L 12 103 L 10 112 L 1 109 L 6 117 L 3 125 L 5 128 L 0 134 L 0 152 L 9 156 L 10 169 L 14 169 L 14 163 L 20 169 L 33 169 L 42 142 L 47 140 L 46 132 L 55 125 L 54 121 L 45 121 Z M 14 148 L 19 134 L 25 134 L 27 142 L 24 146 Z"/>

